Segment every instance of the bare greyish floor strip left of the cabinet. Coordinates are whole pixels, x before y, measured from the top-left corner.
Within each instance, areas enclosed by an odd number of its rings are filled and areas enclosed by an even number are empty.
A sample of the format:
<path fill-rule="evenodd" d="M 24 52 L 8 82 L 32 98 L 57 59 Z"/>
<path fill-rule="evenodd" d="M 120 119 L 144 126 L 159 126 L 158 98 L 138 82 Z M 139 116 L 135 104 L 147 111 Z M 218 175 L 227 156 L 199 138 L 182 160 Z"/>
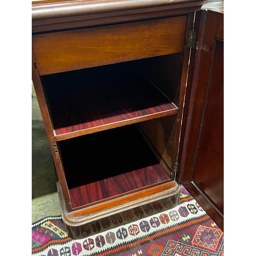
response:
<path fill-rule="evenodd" d="M 54 164 L 32 83 L 32 223 L 61 215 Z"/>

